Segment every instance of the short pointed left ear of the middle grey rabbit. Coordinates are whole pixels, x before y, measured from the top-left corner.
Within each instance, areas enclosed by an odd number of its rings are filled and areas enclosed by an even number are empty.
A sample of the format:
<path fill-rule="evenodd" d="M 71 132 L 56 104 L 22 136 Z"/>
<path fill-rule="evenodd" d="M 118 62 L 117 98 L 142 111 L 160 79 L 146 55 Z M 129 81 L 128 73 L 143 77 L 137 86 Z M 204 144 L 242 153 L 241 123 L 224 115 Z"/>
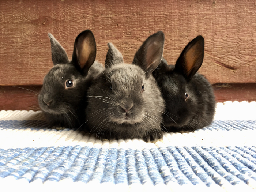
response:
<path fill-rule="evenodd" d="M 111 65 L 116 65 L 118 63 L 124 63 L 122 54 L 112 43 L 108 43 L 108 53 L 105 60 L 105 68 L 110 68 Z"/>

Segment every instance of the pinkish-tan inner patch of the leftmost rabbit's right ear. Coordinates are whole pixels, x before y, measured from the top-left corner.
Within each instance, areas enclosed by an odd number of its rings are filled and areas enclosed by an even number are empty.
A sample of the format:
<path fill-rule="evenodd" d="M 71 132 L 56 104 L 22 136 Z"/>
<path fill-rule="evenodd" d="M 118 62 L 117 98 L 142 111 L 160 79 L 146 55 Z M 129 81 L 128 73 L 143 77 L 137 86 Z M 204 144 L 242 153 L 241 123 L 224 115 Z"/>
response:
<path fill-rule="evenodd" d="M 85 38 L 82 42 L 78 42 L 76 47 L 76 56 L 78 57 L 78 61 L 80 64 L 80 67 L 83 68 L 84 64 L 89 59 L 89 55 L 91 53 L 91 48 L 89 46 L 90 42 L 87 38 Z"/>

